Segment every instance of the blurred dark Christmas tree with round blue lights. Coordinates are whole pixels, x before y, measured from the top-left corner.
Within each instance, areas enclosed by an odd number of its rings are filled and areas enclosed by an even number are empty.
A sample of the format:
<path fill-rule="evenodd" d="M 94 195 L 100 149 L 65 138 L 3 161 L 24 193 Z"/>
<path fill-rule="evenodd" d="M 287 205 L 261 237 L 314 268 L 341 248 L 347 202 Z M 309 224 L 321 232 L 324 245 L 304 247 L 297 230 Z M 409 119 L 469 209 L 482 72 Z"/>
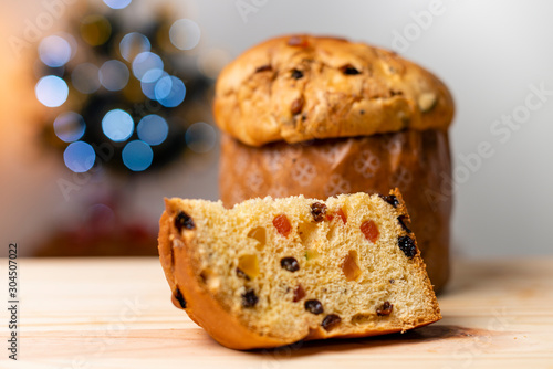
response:
<path fill-rule="evenodd" d="M 129 184 L 137 173 L 215 146 L 209 96 L 220 61 L 213 63 L 218 55 L 211 53 L 200 71 L 201 63 L 187 54 L 200 41 L 200 29 L 189 19 L 160 11 L 146 23 L 125 22 L 131 0 L 104 3 L 75 19 L 69 32 L 42 39 L 35 95 L 48 108 L 44 143 L 63 151 L 70 170 L 121 177 Z M 112 192 L 100 208 L 94 204 L 102 211 L 91 212 L 86 224 L 61 230 L 39 254 L 155 254 L 155 234 L 125 223 L 122 190 Z"/>

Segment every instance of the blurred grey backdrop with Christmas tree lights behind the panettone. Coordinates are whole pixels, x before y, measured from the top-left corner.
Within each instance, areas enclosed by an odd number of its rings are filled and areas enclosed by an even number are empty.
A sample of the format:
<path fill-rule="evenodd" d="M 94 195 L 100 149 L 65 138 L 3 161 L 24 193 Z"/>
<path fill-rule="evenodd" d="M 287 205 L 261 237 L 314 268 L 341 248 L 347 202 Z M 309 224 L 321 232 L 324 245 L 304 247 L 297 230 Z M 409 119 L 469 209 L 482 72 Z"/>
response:
<path fill-rule="evenodd" d="M 551 253 L 551 13 L 545 0 L 3 1 L 0 241 L 24 256 L 156 254 L 164 197 L 218 199 L 220 68 L 310 32 L 395 50 L 451 89 L 453 254 Z"/>

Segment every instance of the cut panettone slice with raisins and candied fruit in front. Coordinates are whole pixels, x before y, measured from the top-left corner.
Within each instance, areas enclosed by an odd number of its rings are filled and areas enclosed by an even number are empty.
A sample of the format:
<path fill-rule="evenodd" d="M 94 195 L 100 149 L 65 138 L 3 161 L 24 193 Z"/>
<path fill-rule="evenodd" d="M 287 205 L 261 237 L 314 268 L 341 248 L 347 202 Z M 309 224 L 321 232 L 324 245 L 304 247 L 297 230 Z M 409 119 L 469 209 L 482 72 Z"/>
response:
<path fill-rule="evenodd" d="M 441 318 L 398 191 L 326 201 L 166 200 L 173 303 L 234 349 L 363 337 Z"/>

